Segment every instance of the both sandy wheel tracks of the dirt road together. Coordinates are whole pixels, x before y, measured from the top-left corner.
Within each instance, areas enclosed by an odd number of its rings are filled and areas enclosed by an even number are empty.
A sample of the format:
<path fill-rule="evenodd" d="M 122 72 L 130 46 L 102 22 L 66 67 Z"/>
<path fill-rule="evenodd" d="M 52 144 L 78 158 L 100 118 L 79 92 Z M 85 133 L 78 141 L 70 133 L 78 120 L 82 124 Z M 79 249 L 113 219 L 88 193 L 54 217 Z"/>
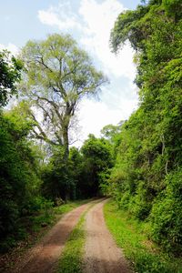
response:
<path fill-rule="evenodd" d="M 106 200 L 95 200 L 62 217 L 45 235 L 12 272 L 18 273 L 51 273 L 55 272 L 66 241 L 76 227 L 80 217 L 85 213 L 86 245 L 83 257 L 83 271 L 86 273 L 131 272 L 122 250 L 106 228 L 103 206 Z"/>

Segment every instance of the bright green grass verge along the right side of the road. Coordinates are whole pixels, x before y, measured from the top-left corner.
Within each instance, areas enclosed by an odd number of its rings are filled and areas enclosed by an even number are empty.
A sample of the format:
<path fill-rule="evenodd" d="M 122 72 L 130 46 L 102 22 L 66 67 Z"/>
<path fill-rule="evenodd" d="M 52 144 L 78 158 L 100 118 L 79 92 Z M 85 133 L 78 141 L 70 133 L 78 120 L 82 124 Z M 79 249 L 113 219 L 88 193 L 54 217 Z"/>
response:
<path fill-rule="evenodd" d="M 147 237 L 148 224 L 136 221 L 114 201 L 104 207 L 106 225 L 137 273 L 182 273 L 182 258 L 164 253 Z"/>

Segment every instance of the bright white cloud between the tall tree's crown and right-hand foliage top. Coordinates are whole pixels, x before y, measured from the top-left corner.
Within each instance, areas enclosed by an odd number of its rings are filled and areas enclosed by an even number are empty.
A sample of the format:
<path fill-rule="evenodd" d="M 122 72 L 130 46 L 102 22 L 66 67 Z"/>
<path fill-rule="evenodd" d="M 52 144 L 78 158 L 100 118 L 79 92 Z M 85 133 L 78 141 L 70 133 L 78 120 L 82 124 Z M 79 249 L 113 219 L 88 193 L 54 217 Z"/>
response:
<path fill-rule="evenodd" d="M 43 24 L 55 25 L 62 31 L 79 31 L 80 43 L 98 58 L 106 74 L 133 80 L 136 68 L 130 45 L 126 44 L 117 56 L 109 48 L 110 31 L 117 15 L 124 10 L 118 0 L 105 0 L 101 4 L 96 0 L 81 0 L 79 16 L 73 13 L 69 2 L 63 2 L 58 7 L 38 11 L 38 18 Z"/>

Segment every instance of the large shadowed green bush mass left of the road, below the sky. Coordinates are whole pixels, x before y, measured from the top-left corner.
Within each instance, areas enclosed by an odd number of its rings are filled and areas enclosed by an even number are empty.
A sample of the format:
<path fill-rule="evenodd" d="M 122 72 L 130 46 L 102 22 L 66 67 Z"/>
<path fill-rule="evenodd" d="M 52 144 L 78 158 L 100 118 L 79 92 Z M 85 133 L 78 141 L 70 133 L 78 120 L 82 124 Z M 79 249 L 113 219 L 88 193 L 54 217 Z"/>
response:
<path fill-rule="evenodd" d="M 6 251 L 23 237 L 21 217 L 35 209 L 39 179 L 25 136 L 1 114 L 0 127 L 0 251 Z"/>

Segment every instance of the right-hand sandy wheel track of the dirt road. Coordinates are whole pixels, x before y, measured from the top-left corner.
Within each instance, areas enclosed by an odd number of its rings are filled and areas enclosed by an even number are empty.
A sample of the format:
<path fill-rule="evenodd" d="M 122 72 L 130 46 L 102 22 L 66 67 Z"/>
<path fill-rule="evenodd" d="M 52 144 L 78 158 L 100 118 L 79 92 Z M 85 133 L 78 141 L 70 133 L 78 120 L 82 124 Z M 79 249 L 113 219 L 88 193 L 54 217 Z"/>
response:
<path fill-rule="evenodd" d="M 85 273 L 129 273 L 120 248 L 106 228 L 102 201 L 86 214 Z"/>

